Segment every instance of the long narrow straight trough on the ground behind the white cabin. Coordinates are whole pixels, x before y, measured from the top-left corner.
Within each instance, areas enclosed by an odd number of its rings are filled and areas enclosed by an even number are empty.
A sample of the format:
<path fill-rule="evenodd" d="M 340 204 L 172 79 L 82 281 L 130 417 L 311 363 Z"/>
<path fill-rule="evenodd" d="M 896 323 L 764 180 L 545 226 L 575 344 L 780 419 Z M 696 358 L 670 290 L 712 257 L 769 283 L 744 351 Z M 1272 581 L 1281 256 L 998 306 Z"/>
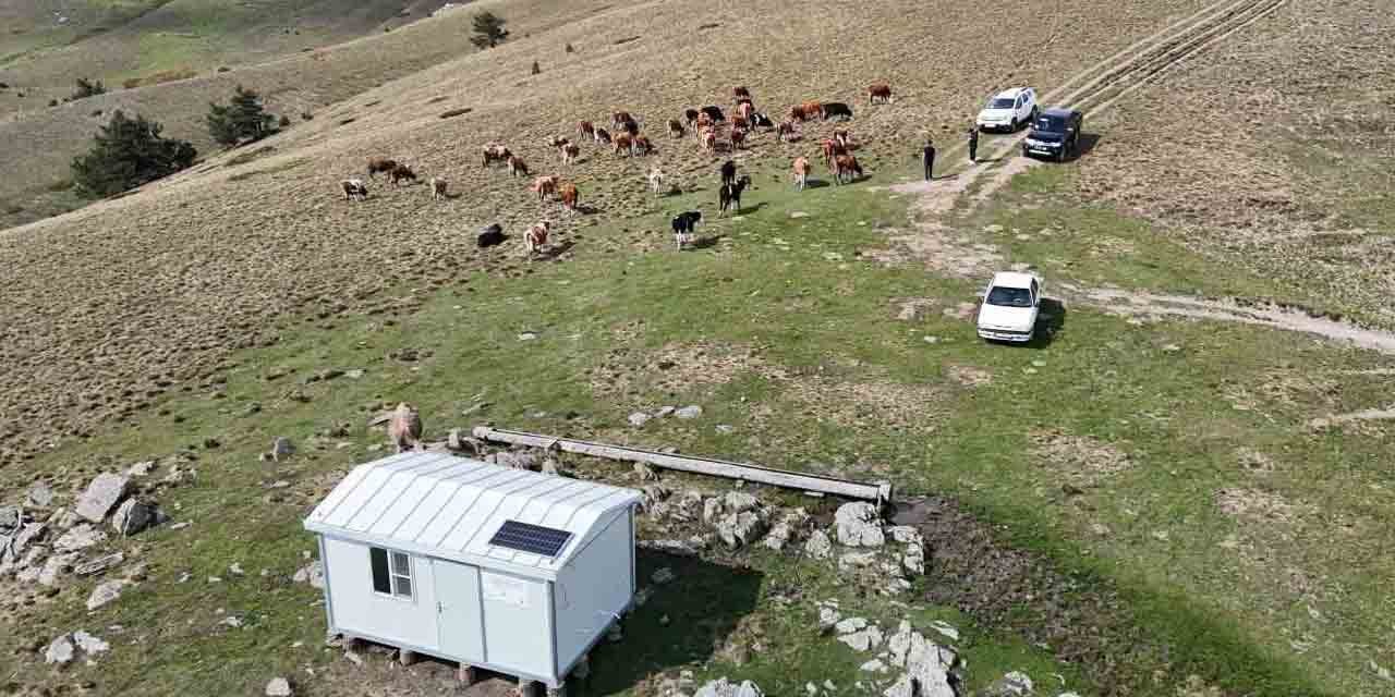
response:
<path fill-rule="evenodd" d="M 706 474 L 711 477 L 727 477 L 731 480 L 752 481 L 784 487 L 787 489 L 812 491 L 819 493 L 833 493 L 847 499 L 873 500 L 879 506 L 891 502 L 890 482 L 855 482 L 834 477 L 820 477 L 817 474 L 792 473 L 787 470 L 773 470 L 753 464 L 728 463 L 724 460 L 710 460 L 706 457 L 686 457 L 679 454 L 656 453 L 638 447 L 618 445 L 591 443 L 589 441 L 575 441 L 571 438 L 557 438 L 523 431 L 506 431 L 502 428 L 476 427 L 474 438 L 492 441 L 497 443 L 526 445 L 530 447 L 558 449 L 566 453 L 589 454 L 591 457 L 605 457 L 608 460 L 624 460 L 644 463 L 665 470 Z"/>

